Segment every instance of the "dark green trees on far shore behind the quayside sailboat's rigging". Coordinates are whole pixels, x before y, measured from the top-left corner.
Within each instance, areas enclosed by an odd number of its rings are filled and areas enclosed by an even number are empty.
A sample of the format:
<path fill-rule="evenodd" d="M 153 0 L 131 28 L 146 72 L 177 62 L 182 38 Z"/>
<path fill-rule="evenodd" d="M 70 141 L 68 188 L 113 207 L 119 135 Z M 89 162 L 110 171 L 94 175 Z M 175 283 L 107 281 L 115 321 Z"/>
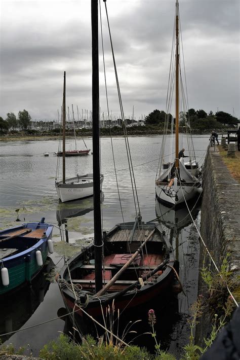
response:
<path fill-rule="evenodd" d="M 163 110 L 154 110 L 145 117 L 145 123 L 163 126 L 166 116 L 168 116 L 169 119 L 172 119 L 171 114 L 166 114 Z M 204 110 L 189 109 L 186 113 L 180 112 L 179 114 L 180 126 L 188 125 L 191 129 L 198 130 L 222 129 L 225 127 L 236 126 L 238 122 L 236 117 L 223 111 L 218 111 L 214 114 L 212 111 L 206 113 Z"/>

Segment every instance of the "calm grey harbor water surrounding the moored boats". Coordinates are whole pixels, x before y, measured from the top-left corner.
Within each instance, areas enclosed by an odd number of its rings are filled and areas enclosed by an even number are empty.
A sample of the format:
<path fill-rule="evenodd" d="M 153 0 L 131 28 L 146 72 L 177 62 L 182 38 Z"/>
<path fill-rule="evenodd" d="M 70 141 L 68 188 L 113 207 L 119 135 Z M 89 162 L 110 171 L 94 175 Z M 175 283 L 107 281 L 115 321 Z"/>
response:
<path fill-rule="evenodd" d="M 208 135 L 193 136 L 195 154 L 200 165 L 204 161 L 208 140 Z M 125 140 L 115 137 L 112 141 L 124 220 L 133 221 L 136 212 Z M 84 148 L 81 140 L 77 140 L 77 143 L 79 149 Z M 90 138 L 86 139 L 86 143 L 92 149 Z M 156 213 L 165 213 L 158 204 L 155 207 L 154 189 L 162 136 L 129 137 L 129 143 L 142 219 L 150 221 L 156 219 Z M 184 136 L 183 147 L 187 149 Z M 66 149 L 71 148 L 73 148 L 73 141 L 68 139 Z M 0 142 L 0 227 L 6 228 L 18 224 L 15 221 L 17 209 L 19 209 L 21 222 L 39 221 L 45 217 L 46 222 L 55 225 L 53 241 L 56 246 L 54 254 L 51 255 L 51 261 L 55 264 L 54 271 L 49 274 L 45 269 L 44 274 L 36 279 L 31 288 L 24 287 L 11 297 L 11 301 L 0 299 L 0 334 L 28 328 L 2 337 L 3 341 L 13 343 L 15 347 L 25 346 L 33 352 L 33 355 L 37 355 L 44 344 L 57 338 L 59 332 L 64 330 L 64 321 L 55 319 L 64 307 L 58 286 L 54 281 L 54 273 L 63 265 L 62 249 L 58 246 L 61 244 L 59 219 L 68 218 L 69 243 L 75 243 L 83 238 L 85 241 L 90 241 L 93 237 L 92 198 L 75 202 L 73 205 L 61 204 L 59 208 L 54 185 L 57 157 L 53 154 L 57 150 L 57 140 Z M 44 152 L 49 152 L 49 157 L 44 157 Z M 188 155 L 187 150 L 185 154 Z M 76 172 L 79 174 L 92 172 L 92 158 L 92 155 L 67 158 L 66 176 L 73 176 Z M 123 217 L 113 172 L 111 139 L 108 137 L 101 138 L 101 166 L 104 174 L 103 229 L 109 230 L 116 223 L 122 222 Z M 172 312 L 171 321 L 168 326 L 165 326 L 166 331 L 163 331 L 161 335 L 164 338 L 163 342 L 175 354 L 180 353 L 188 339 L 186 319 L 189 316 L 189 307 L 196 299 L 198 274 L 198 236 L 195 227 L 183 210 L 177 214 L 177 218 L 179 219 L 178 226 L 174 229 L 169 225 L 168 219 L 164 217 L 162 219 L 165 221 L 163 225 L 166 226 L 166 232 L 173 241 L 176 257 L 179 259 L 180 277 L 186 294 L 186 296 L 183 293 L 179 294 L 177 306 L 168 309 Z M 199 227 L 199 207 L 194 211 L 194 218 Z M 52 319 L 55 320 L 47 322 Z M 166 310 L 165 317 L 157 321 L 163 328 L 162 321 L 166 321 Z M 41 323 L 43 324 L 38 325 Z"/>

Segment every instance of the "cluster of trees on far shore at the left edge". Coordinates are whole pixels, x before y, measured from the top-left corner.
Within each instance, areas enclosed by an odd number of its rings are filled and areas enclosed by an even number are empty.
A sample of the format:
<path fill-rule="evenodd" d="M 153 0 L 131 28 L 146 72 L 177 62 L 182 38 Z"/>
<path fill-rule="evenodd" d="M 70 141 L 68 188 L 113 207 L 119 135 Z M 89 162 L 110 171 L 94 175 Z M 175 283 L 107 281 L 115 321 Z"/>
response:
<path fill-rule="evenodd" d="M 8 113 L 7 118 L 4 120 L 0 116 L 0 129 L 8 131 L 9 129 L 15 130 L 19 126 L 24 130 L 30 125 L 31 117 L 26 110 L 19 111 L 18 117 L 14 113 Z"/>

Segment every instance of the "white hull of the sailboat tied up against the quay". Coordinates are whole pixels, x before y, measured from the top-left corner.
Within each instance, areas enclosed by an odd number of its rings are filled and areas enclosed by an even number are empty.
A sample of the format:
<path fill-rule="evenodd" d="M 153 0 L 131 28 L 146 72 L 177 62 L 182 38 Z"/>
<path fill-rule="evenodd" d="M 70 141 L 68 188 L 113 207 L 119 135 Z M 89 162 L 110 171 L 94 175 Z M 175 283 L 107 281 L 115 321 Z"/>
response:
<path fill-rule="evenodd" d="M 184 205 L 186 201 L 202 193 L 202 187 L 196 187 L 195 184 L 178 185 L 176 191 L 173 188 L 169 189 L 168 184 L 156 185 L 155 190 L 157 200 L 171 207 Z"/>

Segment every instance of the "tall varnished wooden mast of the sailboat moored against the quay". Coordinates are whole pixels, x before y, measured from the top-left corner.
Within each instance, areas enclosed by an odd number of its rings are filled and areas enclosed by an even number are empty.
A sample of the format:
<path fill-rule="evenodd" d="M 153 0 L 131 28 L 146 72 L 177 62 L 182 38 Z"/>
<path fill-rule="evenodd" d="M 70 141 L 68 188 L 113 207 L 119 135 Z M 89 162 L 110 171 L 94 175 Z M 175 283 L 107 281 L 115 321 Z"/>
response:
<path fill-rule="evenodd" d="M 175 168 L 178 169 L 179 161 L 178 161 L 178 153 L 179 153 L 179 145 L 178 145 L 178 122 L 179 122 L 179 30 L 178 30 L 178 17 L 179 17 L 179 7 L 178 0 L 176 0 L 176 103 L 175 103 L 175 112 L 176 112 L 176 121 L 175 121 Z"/>

